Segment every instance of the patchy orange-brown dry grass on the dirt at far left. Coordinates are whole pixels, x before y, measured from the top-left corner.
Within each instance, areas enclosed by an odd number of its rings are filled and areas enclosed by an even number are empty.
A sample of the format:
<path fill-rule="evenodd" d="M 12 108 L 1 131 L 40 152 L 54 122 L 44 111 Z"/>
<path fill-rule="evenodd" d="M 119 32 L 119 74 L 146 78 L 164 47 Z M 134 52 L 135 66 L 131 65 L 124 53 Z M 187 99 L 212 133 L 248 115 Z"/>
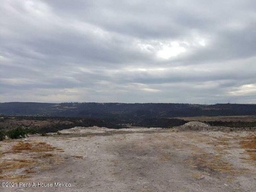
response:
<path fill-rule="evenodd" d="M 35 165 L 40 170 L 49 170 L 52 168 L 52 164 L 63 163 L 62 157 L 56 154 L 46 153 L 52 152 L 53 150 L 60 151 L 62 149 L 52 147 L 45 142 L 15 142 L 15 145 L 13 145 L 10 150 L 6 150 L 3 154 L 16 154 L 17 159 L 4 159 L 0 162 L 0 179 L 24 179 L 28 177 L 27 174 L 36 172 L 33 170 Z M 24 156 L 19 154 L 21 152 L 26 152 L 26 159 L 23 159 Z M 41 162 L 37 159 L 41 159 Z M 23 174 L 16 174 L 15 171 L 21 168 L 24 168 L 24 171 L 22 171 Z"/>

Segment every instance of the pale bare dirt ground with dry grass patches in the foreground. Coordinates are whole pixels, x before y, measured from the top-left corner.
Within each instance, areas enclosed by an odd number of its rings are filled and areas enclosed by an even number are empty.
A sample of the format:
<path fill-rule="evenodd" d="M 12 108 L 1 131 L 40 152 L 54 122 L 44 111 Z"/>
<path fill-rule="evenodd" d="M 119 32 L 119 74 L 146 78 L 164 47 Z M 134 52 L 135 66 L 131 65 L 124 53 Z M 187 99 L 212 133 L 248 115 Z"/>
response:
<path fill-rule="evenodd" d="M 5 140 L 0 191 L 256 191 L 255 136 L 91 127 Z"/>

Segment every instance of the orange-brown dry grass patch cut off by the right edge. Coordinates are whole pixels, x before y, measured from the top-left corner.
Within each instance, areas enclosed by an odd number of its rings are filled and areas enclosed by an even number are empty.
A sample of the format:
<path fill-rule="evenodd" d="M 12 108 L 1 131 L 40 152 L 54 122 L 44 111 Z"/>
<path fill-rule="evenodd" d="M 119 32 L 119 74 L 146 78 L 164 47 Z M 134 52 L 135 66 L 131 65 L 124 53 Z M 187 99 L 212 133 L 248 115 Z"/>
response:
<path fill-rule="evenodd" d="M 246 153 L 250 156 L 250 159 L 256 161 L 256 136 L 247 136 L 240 141 L 241 147 L 246 149 Z"/>

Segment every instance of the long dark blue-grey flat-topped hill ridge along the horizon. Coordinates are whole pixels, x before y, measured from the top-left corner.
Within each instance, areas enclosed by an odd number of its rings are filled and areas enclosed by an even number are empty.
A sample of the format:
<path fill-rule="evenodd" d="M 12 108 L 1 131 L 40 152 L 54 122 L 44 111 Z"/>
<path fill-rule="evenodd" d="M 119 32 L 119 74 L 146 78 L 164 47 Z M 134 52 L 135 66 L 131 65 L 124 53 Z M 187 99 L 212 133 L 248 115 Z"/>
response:
<path fill-rule="evenodd" d="M 256 104 L 124 104 L 68 102 L 60 104 L 38 102 L 0 103 L 0 115 L 66 116 L 86 118 L 115 118 L 129 121 L 141 118 L 170 118 L 177 116 L 256 115 Z"/>

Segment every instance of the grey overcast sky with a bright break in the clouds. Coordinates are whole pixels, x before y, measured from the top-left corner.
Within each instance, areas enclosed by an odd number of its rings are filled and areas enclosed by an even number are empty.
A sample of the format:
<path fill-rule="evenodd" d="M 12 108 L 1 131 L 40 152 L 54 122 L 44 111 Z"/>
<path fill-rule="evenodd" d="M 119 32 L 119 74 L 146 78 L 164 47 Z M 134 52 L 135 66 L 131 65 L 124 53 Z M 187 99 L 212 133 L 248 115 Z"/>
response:
<path fill-rule="evenodd" d="M 255 0 L 2 0 L 0 102 L 256 103 Z"/>

